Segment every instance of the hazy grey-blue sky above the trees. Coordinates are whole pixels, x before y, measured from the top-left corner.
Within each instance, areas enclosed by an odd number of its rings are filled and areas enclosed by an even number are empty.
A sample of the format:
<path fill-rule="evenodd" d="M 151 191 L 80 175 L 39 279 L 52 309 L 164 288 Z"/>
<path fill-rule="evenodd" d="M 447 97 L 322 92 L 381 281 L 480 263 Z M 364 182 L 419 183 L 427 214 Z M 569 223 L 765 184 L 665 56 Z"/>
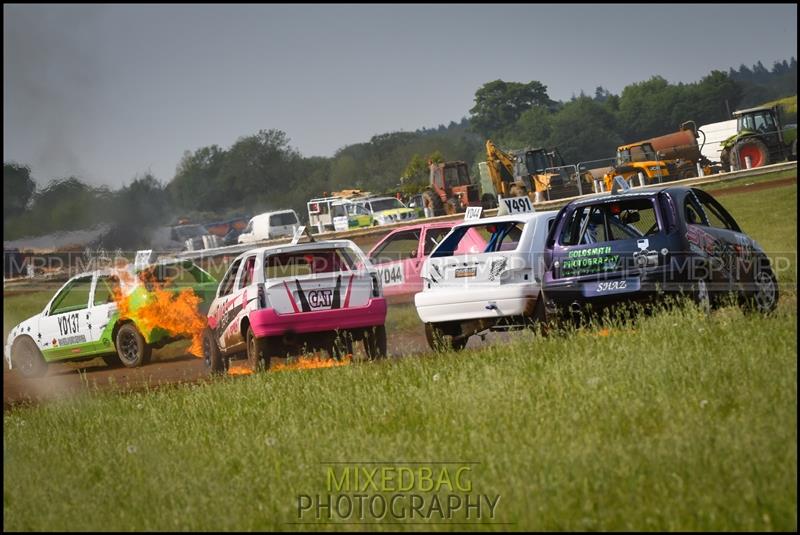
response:
<path fill-rule="evenodd" d="M 170 180 L 260 129 L 305 156 L 467 116 L 495 79 L 551 98 L 797 54 L 796 4 L 4 5 L 3 160 L 42 184 Z"/>

